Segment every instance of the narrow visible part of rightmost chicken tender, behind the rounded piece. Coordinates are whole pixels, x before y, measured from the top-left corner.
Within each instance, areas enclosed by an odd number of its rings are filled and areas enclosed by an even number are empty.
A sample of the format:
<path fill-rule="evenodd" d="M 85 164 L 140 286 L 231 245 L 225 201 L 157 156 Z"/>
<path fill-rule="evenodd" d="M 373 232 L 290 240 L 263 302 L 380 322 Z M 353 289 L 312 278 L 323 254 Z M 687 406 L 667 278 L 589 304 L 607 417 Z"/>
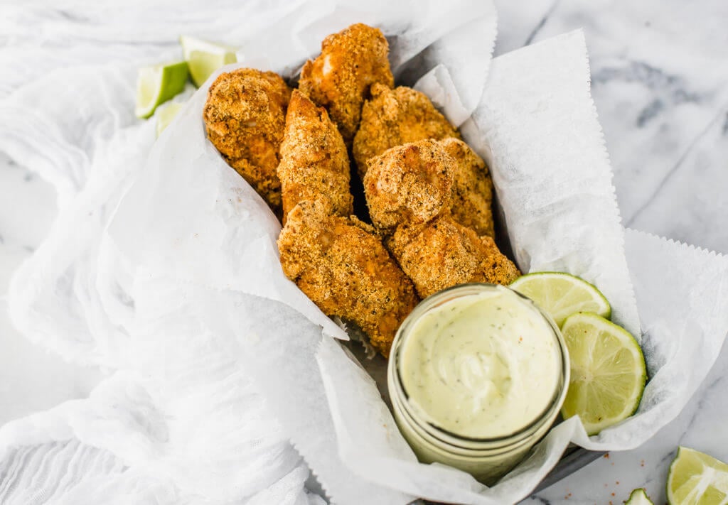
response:
<path fill-rule="evenodd" d="M 454 220 L 478 235 L 494 236 L 493 181 L 486 162 L 456 138 L 440 140 L 440 146 L 456 162 L 451 212 Z"/>

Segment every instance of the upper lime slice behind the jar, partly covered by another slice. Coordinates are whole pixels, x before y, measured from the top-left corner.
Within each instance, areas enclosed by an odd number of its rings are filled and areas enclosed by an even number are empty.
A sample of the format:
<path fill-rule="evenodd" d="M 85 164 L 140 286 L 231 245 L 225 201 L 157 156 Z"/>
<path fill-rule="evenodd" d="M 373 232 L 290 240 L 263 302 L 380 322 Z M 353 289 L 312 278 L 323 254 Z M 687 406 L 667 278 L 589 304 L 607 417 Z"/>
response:
<path fill-rule="evenodd" d="M 518 277 L 510 285 L 553 317 L 561 327 L 564 319 L 577 312 L 612 315 L 612 307 L 600 291 L 585 280 L 561 272 L 537 272 Z"/>

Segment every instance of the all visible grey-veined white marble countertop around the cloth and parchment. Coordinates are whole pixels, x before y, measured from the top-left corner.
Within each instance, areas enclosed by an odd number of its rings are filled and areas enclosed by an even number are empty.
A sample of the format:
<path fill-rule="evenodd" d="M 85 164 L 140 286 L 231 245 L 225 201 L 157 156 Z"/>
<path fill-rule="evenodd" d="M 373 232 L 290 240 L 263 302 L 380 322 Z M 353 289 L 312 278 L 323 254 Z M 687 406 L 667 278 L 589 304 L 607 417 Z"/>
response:
<path fill-rule="evenodd" d="M 625 226 L 728 253 L 728 4 L 501 0 L 496 6 L 496 55 L 584 28 Z M 102 374 L 39 352 L 6 314 L 9 277 L 54 217 L 50 185 L 0 154 L 0 424 L 85 397 Z M 727 378 L 724 349 L 686 409 L 652 440 L 599 458 L 524 503 L 620 504 L 638 487 L 664 503 L 678 445 L 728 461 Z"/>

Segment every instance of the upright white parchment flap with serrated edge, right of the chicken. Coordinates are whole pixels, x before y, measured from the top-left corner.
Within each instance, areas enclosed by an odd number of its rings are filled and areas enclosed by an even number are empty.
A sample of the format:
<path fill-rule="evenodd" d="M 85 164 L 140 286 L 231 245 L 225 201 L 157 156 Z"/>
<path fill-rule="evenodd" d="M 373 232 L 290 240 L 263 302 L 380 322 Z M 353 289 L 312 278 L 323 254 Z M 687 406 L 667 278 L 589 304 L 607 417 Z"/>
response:
<path fill-rule="evenodd" d="M 493 170 L 518 266 L 567 271 L 604 293 L 640 338 L 612 168 L 580 31 L 494 60 L 464 139 Z"/>

